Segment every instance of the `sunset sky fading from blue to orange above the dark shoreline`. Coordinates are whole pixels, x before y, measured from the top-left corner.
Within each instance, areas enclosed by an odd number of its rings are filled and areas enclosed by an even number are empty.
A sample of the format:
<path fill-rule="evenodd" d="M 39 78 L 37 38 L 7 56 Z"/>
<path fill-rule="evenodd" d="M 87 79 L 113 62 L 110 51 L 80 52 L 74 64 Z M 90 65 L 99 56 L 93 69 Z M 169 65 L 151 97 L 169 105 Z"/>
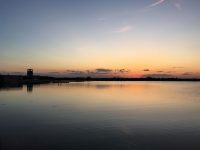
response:
<path fill-rule="evenodd" d="M 200 78 L 199 0 L 0 0 L 0 74 Z"/>

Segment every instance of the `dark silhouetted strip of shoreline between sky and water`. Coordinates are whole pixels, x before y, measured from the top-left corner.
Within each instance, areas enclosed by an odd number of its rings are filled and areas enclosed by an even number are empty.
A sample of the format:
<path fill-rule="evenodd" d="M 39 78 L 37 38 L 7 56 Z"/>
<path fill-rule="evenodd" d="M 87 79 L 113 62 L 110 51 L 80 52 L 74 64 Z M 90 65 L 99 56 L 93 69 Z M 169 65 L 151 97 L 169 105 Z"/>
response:
<path fill-rule="evenodd" d="M 200 82 L 198 78 L 92 78 L 92 77 L 49 77 L 49 76 L 27 76 L 0 75 L 0 86 L 24 85 L 24 84 L 48 84 L 48 83 L 70 83 L 88 81 L 171 81 L 171 82 Z"/>

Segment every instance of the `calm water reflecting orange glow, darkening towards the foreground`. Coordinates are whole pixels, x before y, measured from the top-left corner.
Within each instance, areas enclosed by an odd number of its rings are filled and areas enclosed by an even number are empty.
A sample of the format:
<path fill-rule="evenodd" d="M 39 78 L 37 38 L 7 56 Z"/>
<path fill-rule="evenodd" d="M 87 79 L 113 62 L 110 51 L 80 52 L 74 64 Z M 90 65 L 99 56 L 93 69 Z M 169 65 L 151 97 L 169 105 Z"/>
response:
<path fill-rule="evenodd" d="M 0 89 L 1 150 L 199 150 L 200 83 Z"/>

